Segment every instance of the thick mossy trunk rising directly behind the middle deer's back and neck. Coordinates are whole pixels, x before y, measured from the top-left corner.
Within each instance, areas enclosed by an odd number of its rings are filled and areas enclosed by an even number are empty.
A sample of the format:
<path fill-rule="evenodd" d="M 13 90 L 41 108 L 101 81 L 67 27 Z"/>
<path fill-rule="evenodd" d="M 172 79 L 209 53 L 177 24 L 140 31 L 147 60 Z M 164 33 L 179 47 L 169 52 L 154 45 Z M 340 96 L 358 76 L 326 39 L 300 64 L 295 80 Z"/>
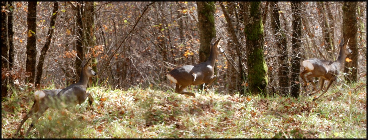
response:
<path fill-rule="evenodd" d="M 216 38 L 215 30 L 215 2 L 213 1 L 198 1 L 198 29 L 199 29 L 199 62 L 205 62 L 210 54 L 210 43 L 213 37 Z M 217 69 L 215 66 L 215 75 Z M 200 89 L 203 89 L 203 85 L 199 85 Z"/>

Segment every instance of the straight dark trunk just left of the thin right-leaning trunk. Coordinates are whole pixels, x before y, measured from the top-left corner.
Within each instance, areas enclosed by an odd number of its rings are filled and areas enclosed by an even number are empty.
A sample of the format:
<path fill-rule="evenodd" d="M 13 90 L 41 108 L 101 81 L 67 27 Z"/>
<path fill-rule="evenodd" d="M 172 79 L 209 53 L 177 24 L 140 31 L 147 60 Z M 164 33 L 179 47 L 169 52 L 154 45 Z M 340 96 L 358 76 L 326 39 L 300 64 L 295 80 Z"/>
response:
<path fill-rule="evenodd" d="M 36 16 L 37 16 L 37 1 L 28 2 L 28 13 L 27 13 L 27 45 L 26 45 L 26 72 L 30 74 L 26 78 L 26 82 L 33 83 L 35 81 L 36 72 Z"/>

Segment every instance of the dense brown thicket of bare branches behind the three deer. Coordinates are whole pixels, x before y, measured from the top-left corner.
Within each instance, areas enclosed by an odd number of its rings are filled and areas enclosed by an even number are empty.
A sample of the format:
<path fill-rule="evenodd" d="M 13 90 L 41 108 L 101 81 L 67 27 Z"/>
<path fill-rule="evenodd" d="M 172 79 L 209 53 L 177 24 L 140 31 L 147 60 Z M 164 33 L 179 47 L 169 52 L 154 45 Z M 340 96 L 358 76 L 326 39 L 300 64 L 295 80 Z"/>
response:
<path fill-rule="evenodd" d="M 32 84 L 35 71 L 27 73 L 28 67 L 36 70 L 36 64 L 44 59 L 40 88 L 49 84 L 62 88 L 78 81 L 82 59 L 95 58 L 97 85 L 119 89 L 131 86 L 168 89 L 173 85 L 166 80 L 166 72 L 176 66 L 201 62 L 201 34 L 213 36 L 213 30 L 216 38 L 223 38 L 220 44 L 226 49 L 226 54 L 217 59 L 219 74 L 214 86 L 217 91 L 233 93 L 242 87 L 247 89 L 251 81 L 246 77 L 254 76 L 246 76 L 250 74 L 248 66 L 259 63 L 252 60 L 252 53 L 246 53 L 251 46 L 246 46 L 245 25 L 250 21 L 244 17 L 244 12 L 250 11 L 244 11 L 243 3 L 239 2 L 210 3 L 211 7 L 207 8 L 214 12 L 207 14 L 213 15 L 215 29 L 209 28 L 208 32 L 199 30 L 201 18 L 198 16 L 201 14 L 196 2 L 59 2 L 58 12 L 53 11 L 54 2 L 37 2 L 36 11 L 32 11 L 35 9 L 28 2 L 13 2 L 13 6 L 6 2 L 1 4 L 1 26 L 7 27 L 1 30 L 2 87 L 35 86 Z M 297 13 L 290 2 L 259 4 L 261 13 L 257 16 L 262 19 L 264 42 L 261 52 L 257 53 L 263 55 L 267 69 L 264 74 L 268 75 L 263 91 L 286 94 L 292 86 L 299 90 L 297 85 L 302 83 L 297 76 L 298 62 L 309 58 L 335 60 L 339 51 L 336 44 L 344 30 L 353 31 L 347 26 L 353 25 L 350 22 L 357 28 L 354 29 L 356 35 L 348 35 L 354 36 L 354 44 L 349 44 L 355 46 L 351 62 L 346 62 L 347 80 L 366 78 L 367 3 L 297 4 Z M 348 8 L 351 6 L 354 9 Z M 8 15 L 12 17 L 6 18 Z M 50 24 L 53 17 L 56 17 L 54 26 Z M 27 18 L 36 20 L 32 23 Z M 13 24 L 5 24 L 8 20 Z M 3 29 L 13 29 L 11 43 L 6 40 L 10 34 L 5 34 Z M 50 29 L 53 29 L 51 38 Z M 296 39 L 297 44 L 293 43 Z M 45 58 L 39 59 L 43 46 L 48 43 Z M 14 49 L 9 44 L 13 44 Z M 10 65 L 4 65 L 9 64 L 9 60 Z M 27 63 L 28 60 L 34 63 Z M 4 82 L 7 77 L 13 81 L 11 84 Z"/>

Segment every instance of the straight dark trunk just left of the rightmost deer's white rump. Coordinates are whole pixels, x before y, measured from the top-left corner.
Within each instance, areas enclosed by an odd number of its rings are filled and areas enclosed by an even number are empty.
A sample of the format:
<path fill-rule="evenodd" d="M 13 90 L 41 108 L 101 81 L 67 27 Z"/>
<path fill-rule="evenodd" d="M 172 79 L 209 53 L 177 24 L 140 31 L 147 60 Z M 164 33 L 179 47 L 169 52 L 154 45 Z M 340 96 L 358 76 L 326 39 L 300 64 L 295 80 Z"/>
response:
<path fill-rule="evenodd" d="M 300 43 L 301 43 L 301 2 L 291 2 L 291 12 L 293 16 L 293 37 L 291 39 L 291 95 L 294 97 L 299 96 L 300 83 Z"/>

